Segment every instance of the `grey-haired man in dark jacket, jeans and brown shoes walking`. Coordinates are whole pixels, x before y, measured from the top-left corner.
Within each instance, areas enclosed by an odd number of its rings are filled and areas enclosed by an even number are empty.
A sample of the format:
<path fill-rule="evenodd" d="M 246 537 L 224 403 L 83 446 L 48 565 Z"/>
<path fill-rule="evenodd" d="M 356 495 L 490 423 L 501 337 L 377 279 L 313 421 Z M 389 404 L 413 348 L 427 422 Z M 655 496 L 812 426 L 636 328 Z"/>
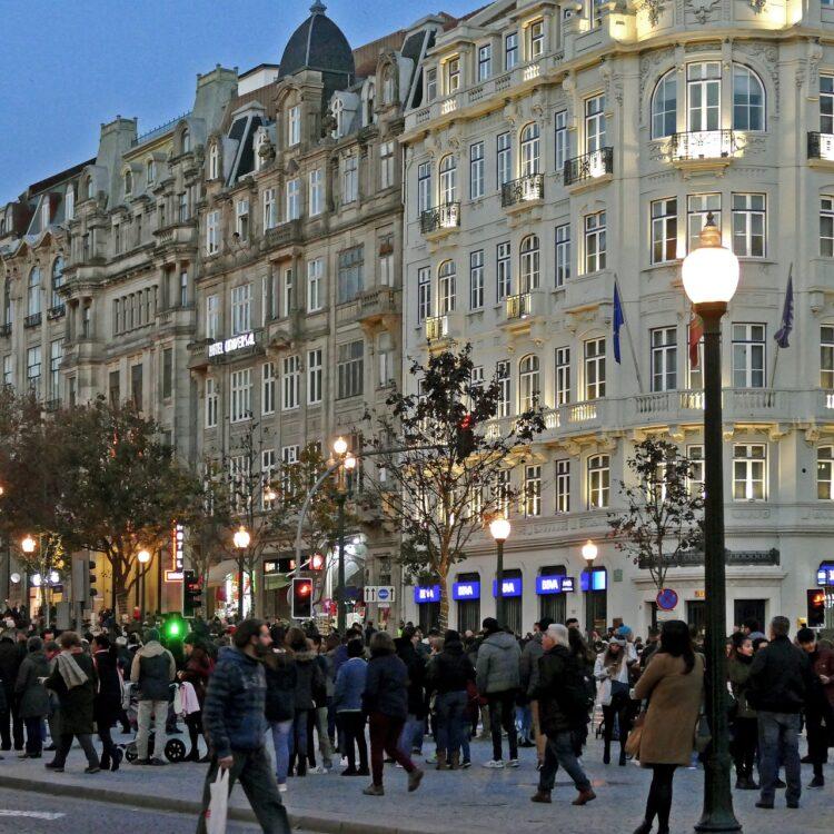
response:
<path fill-rule="evenodd" d="M 575 752 L 575 735 L 588 723 L 588 697 L 582 668 L 569 648 L 569 634 L 564 625 L 550 625 L 542 637 L 544 654 L 538 661 L 538 718 L 547 737 L 545 761 L 539 771 L 538 791 L 533 802 L 550 802 L 556 771 L 562 765 L 574 781 L 579 795 L 574 805 L 596 798 Z"/>

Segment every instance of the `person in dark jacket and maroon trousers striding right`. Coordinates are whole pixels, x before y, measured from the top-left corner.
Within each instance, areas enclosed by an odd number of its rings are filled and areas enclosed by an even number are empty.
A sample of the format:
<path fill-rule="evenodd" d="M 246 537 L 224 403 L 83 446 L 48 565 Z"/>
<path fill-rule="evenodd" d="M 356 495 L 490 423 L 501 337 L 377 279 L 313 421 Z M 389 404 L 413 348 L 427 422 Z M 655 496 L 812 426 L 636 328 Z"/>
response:
<path fill-rule="evenodd" d="M 403 726 L 408 717 L 408 669 L 397 657 L 394 641 L 387 632 L 377 632 L 370 638 L 370 662 L 365 679 L 363 707 L 368 714 L 373 775 L 371 784 L 363 793 L 367 796 L 385 794 L 385 753 L 403 765 L 408 774 L 408 790 L 416 791 L 423 780 L 423 771 L 399 747 Z"/>

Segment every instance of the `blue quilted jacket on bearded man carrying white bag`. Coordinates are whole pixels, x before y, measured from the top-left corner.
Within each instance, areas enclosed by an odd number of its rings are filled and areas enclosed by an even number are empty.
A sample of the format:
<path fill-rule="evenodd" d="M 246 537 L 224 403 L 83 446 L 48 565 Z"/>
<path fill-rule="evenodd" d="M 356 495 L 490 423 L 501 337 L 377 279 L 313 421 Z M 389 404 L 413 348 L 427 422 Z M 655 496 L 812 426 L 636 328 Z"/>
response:
<path fill-rule="evenodd" d="M 234 646 L 224 646 L 202 705 L 202 725 L 218 758 L 264 746 L 266 694 L 264 664 Z"/>

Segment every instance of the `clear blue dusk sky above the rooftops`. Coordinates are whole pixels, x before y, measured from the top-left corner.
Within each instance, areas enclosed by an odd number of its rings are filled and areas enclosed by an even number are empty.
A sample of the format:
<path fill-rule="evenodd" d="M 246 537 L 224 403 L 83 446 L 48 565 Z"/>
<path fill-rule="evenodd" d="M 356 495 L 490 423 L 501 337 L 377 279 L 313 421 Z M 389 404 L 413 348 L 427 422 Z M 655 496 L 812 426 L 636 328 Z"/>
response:
<path fill-rule="evenodd" d="M 477 0 L 326 0 L 354 47 Z M 483 3 L 481 3 L 483 4 Z M 198 72 L 278 63 L 311 0 L 0 0 L 0 205 L 96 155 L 99 126 L 139 132 L 190 109 Z"/>

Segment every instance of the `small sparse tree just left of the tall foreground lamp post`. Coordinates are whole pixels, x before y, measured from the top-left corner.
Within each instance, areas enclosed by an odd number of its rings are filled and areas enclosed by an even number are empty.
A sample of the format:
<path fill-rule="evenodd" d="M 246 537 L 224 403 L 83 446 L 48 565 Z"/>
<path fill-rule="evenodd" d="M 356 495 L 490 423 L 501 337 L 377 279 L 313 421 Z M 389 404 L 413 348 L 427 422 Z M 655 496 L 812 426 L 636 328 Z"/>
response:
<path fill-rule="evenodd" d="M 626 465 L 633 479 L 619 483 L 626 509 L 608 515 L 610 535 L 661 590 L 681 553 L 702 544 L 704 498 L 692 488 L 693 461 L 669 440 L 646 437 Z"/>

